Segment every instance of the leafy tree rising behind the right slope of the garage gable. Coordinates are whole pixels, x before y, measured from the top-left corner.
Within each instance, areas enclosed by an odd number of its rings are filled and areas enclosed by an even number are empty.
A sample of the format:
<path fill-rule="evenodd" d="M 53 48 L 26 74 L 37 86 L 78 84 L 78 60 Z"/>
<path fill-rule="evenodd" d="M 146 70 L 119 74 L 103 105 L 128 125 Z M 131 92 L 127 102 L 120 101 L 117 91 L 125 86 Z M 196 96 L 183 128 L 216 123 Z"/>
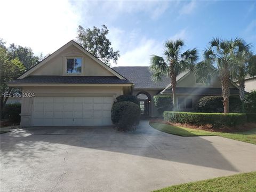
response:
<path fill-rule="evenodd" d="M 97 27 L 84 29 L 82 26 L 78 26 L 76 41 L 109 66 L 109 61 L 113 60 L 116 63 L 120 55 L 119 51 L 114 51 L 113 47 L 110 47 L 111 43 L 106 37 L 107 34 L 108 29 L 105 25 L 102 25 L 101 29 Z"/>

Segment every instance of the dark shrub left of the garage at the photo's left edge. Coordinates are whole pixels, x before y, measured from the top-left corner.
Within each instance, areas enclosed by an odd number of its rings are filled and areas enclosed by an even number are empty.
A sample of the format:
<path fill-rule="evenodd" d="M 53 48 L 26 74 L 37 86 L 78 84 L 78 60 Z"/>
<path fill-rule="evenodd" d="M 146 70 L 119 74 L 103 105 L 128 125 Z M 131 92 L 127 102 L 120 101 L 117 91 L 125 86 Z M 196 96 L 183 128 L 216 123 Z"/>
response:
<path fill-rule="evenodd" d="M 5 119 L 13 123 L 20 122 L 20 113 L 21 113 L 21 103 L 11 103 L 6 104 L 3 110 L 3 115 Z"/>

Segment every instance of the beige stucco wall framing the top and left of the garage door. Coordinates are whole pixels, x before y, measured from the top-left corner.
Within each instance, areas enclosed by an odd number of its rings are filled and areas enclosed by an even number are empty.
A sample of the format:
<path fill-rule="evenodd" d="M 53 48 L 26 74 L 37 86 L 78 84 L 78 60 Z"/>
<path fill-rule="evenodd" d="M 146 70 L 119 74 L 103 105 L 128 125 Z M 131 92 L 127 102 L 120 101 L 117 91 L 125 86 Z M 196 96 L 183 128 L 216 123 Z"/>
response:
<path fill-rule="evenodd" d="M 113 99 L 123 94 L 122 87 L 24 87 L 22 92 L 35 93 L 39 96 L 86 96 L 86 95 L 113 95 Z M 31 126 L 34 98 L 22 98 L 21 126 Z"/>

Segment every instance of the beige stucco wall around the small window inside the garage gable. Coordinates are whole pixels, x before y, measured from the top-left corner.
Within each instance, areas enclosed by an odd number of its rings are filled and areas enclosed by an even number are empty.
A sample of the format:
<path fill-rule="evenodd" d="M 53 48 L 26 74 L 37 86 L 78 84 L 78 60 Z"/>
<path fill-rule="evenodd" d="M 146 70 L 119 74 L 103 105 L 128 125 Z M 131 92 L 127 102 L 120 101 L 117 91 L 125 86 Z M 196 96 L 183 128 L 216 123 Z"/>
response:
<path fill-rule="evenodd" d="M 114 76 L 99 63 L 91 59 L 74 45 L 69 46 L 30 75 L 72 75 L 66 74 L 66 58 L 82 57 L 82 74 L 85 76 Z M 78 74 L 75 74 L 78 75 Z"/>

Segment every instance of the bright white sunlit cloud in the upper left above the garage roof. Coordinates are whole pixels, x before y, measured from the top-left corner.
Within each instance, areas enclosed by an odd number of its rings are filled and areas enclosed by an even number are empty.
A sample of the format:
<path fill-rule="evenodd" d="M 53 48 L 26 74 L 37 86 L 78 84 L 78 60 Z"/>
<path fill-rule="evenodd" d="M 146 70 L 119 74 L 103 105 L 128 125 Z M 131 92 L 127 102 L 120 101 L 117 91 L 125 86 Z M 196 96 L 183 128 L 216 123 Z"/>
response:
<path fill-rule="evenodd" d="M 2 1 L 0 37 L 29 46 L 39 55 L 52 53 L 76 36 L 79 10 L 63 1 Z"/>

